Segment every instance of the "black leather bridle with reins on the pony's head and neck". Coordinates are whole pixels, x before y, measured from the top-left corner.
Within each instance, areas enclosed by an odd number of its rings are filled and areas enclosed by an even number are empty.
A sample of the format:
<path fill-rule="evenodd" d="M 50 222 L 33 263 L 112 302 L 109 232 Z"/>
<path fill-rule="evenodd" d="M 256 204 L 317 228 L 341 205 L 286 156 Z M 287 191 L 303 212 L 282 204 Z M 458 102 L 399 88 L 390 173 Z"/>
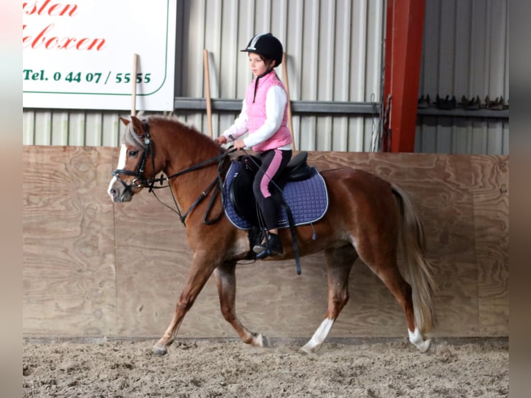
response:
<path fill-rule="evenodd" d="M 181 222 L 184 225 L 186 225 L 186 217 L 191 213 L 191 211 L 193 211 L 193 209 L 195 209 L 195 207 L 197 207 L 200 204 L 200 202 L 202 202 L 202 200 L 209 194 L 209 192 L 212 189 L 214 189 L 214 194 L 212 195 L 209 205 L 207 207 L 207 210 L 204 213 L 203 222 L 207 225 L 215 223 L 220 218 L 220 216 L 223 214 L 223 195 L 221 196 L 222 207 L 221 207 L 220 212 L 214 218 L 210 218 L 210 219 L 209 219 L 209 214 L 210 214 L 212 206 L 214 205 L 214 200 L 216 199 L 216 197 L 218 196 L 218 193 L 220 193 L 221 189 L 223 188 L 223 178 L 222 178 L 222 173 L 221 173 L 223 164 L 225 162 L 227 155 L 231 153 L 232 151 L 234 151 L 234 149 L 220 150 L 220 153 L 218 155 L 211 157 L 210 159 L 207 159 L 204 162 L 195 164 L 173 175 L 168 175 L 166 177 L 164 175 L 161 175 L 161 177 L 157 178 L 155 176 L 155 156 L 153 153 L 153 146 L 151 144 L 149 125 L 146 121 L 143 121 L 142 123 L 143 123 L 143 128 L 144 128 L 144 135 L 141 138 L 143 138 L 143 142 L 144 144 L 146 144 L 146 146 L 142 150 L 142 155 L 141 155 L 139 163 L 137 164 L 136 170 L 129 171 L 129 170 L 123 170 L 121 168 L 116 168 L 116 170 L 111 172 L 112 175 L 114 175 L 116 180 L 121 182 L 123 187 L 125 187 L 125 190 L 128 191 L 131 195 L 134 194 L 133 192 L 134 188 L 148 187 L 149 192 L 152 192 L 155 195 L 155 198 L 157 198 L 157 200 L 159 200 L 159 202 L 161 202 L 162 205 L 168 207 L 168 209 L 171 209 L 172 211 L 175 211 L 175 213 L 178 214 Z M 146 178 L 142 178 L 142 175 L 144 172 L 144 168 L 146 166 L 146 161 L 148 159 L 148 156 L 151 157 L 151 166 L 152 166 L 151 169 L 153 170 L 153 176 L 151 178 L 146 179 Z M 215 162 L 218 162 L 218 173 L 216 175 L 216 178 L 214 178 L 214 180 L 209 184 L 209 186 L 200 193 L 199 197 L 195 199 L 195 201 L 192 203 L 189 209 L 186 210 L 184 214 L 182 214 L 181 210 L 179 209 L 179 206 L 177 205 L 177 199 L 175 198 L 173 189 L 171 189 L 171 185 L 169 184 L 170 180 L 172 178 L 177 178 L 180 175 L 190 173 L 191 171 L 195 171 L 200 168 L 203 168 L 204 166 L 209 166 L 210 164 L 213 164 Z M 120 175 L 132 175 L 135 178 L 134 180 L 132 180 L 131 184 L 128 184 L 127 182 L 121 179 Z M 155 187 L 156 182 L 159 182 L 160 184 L 159 187 Z M 168 184 L 164 185 L 164 182 L 167 182 Z M 161 188 L 167 188 L 167 187 L 170 188 L 171 195 L 173 197 L 173 202 L 175 205 L 175 209 L 171 206 L 166 205 L 166 203 L 162 202 L 162 200 L 160 200 L 157 194 L 155 193 L 155 189 L 161 189 Z"/>

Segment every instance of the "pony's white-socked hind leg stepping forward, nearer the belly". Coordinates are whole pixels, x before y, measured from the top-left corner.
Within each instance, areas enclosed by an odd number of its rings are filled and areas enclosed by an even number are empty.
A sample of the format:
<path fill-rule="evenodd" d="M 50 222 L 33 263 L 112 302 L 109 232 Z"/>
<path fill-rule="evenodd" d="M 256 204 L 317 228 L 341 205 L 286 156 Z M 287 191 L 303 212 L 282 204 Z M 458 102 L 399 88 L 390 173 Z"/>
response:
<path fill-rule="evenodd" d="M 325 254 L 328 270 L 328 309 L 312 338 L 301 347 L 301 351 L 306 353 L 315 352 L 321 347 L 332 329 L 333 322 L 349 301 L 350 270 L 358 258 L 356 250 L 351 245 L 327 249 Z"/>

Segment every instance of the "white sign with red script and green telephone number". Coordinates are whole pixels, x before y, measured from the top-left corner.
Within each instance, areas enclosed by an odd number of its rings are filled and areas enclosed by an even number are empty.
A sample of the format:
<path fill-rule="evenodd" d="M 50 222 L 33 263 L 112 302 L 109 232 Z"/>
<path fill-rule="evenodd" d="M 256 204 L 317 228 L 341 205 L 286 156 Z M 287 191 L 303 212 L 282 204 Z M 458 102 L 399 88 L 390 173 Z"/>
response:
<path fill-rule="evenodd" d="M 23 106 L 173 110 L 176 3 L 24 1 Z"/>

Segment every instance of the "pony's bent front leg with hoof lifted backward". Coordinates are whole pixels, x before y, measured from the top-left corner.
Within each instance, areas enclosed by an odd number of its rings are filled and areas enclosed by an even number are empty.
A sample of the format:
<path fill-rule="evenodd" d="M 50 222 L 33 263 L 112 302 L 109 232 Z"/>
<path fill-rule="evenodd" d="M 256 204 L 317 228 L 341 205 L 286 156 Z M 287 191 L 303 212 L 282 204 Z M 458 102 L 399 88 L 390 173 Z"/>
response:
<path fill-rule="evenodd" d="M 242 325 L 236 316 L 236 263 L 223 263 L 214 270 L 216 286 L 220 298 L 220 308 L 223 317 L 229 322 L 244 343 L 257 347 L 267 347 L 269 341 L 261 334 L 253 333 Z"/>

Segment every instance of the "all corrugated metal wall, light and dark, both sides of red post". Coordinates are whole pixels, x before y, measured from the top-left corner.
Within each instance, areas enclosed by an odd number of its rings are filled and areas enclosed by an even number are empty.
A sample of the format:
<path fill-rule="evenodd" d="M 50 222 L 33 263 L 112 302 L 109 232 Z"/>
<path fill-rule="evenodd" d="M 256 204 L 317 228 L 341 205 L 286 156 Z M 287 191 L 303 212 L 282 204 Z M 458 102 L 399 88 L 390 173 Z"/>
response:
<path fill-rule="evenodd" d="M 507 7 L 507 0 L 426 0 L 421 94 L 508 98 Z M 294 105 L 315 101 L 331 109 L 294 112 L 295 147 L 367 151 L 378 125 L 378 107 L 370 105 L 381 97 L 384 13 L 384 0 L 179 0 L 177 116 L 206 133 L 204 107 L 179 101 L 205 96 L 203 49 L 212 98 L 240 99 L 252 75 L 239 50 L 254 33 L 270 31 L 284 43 Z M 281 67 L 278 73 L 284 79 Z M 336 113 L 336 102 L 365 104 L 369 112 Z M 214 112 L 214 137 L 234 121 L 236 109 Z M 119 114 L 128 112 L 24 110 L 23 143 L 117 146 Z M 507 154 L 508 130 L 508 119 L 419 116 L 415 148 Z"/>

